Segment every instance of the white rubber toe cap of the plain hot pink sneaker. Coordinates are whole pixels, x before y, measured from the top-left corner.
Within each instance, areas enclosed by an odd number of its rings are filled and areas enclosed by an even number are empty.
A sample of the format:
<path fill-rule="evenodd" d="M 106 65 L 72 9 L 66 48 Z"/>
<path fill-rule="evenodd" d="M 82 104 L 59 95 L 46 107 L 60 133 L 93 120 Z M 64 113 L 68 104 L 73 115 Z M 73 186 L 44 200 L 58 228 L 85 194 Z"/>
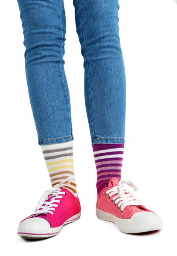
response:
<path fill-rule="evenodd" d="M 46 233 L 50 230 L 50 224 L 44 218 L 28 218 L 19 224 L 18 232 Z"/>

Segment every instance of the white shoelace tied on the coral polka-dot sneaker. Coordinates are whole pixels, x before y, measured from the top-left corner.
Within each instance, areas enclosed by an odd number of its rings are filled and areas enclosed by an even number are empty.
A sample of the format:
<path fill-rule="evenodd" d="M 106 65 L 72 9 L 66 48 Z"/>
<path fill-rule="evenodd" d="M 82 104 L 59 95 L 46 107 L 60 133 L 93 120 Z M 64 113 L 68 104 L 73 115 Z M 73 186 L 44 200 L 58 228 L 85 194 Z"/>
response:
<path fill-rule="evenodd" d="M 123 183 L 127 184 L 128 186 L 123 186 Z M 123 212 L 126 206 L 143 205 L 135 193 L 137 190 L 138 188 L 131 181 L 120 180 L 119 186 L 112 187 L 112 189 L 107 190 L 104 195 L 110 193 L 108 198 L 111 198 L 116 194 L 111 200 L 115 205 L 118 204 L 118 209 L 120 208 Z"/>

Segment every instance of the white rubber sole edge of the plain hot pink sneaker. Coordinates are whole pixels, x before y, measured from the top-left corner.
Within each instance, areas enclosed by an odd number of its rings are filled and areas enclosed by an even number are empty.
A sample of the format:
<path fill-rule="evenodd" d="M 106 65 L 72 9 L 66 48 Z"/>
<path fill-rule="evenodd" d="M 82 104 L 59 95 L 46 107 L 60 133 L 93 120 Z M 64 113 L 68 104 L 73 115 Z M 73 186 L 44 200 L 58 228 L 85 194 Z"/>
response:
<path fill-rule="evenodd" d="M 77 221 L 81 217 L 81 212 L 74 215 L 73 217 L 69 218 L 67 221 L 64 222 L 63 225 L 60 227 L 53 227 L 46 230 L 46 232 L 39 233 L 35 229 L 30 229 L 29 227 L 18 227 L 17 233 L 18 236 L 25 239 L 44 239 L 49 238 L 52 236 L 56 236 L 60 233 L 64 225 L 69 224 L 73 221 Z"/>

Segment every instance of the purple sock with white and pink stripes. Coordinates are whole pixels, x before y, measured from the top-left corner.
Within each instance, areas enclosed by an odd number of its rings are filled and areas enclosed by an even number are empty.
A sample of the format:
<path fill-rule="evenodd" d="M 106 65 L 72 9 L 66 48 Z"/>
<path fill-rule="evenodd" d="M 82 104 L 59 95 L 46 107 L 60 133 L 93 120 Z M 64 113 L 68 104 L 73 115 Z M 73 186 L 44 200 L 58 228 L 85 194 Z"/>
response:
<path fill-rule="evenodd" d="M 124 143 L 122 144 L 95 144 L 93 154 L 96 163 L 97 193 L 108 186 L 113 177 L 121 179 Z"/>

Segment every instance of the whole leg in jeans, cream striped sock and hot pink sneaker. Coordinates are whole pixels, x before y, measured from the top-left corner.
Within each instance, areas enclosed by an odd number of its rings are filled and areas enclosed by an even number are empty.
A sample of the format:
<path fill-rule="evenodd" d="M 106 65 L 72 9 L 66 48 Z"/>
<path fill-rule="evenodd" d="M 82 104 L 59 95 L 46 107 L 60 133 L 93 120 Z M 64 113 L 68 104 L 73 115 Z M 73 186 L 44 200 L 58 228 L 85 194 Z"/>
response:
<path fill-rule="evenodd" d="M 44 192 L 34 214 L 23 220 L 23 238 L 57 235 L 81 215 L 73 167 L 70 98 L 64 73 L 63 0 L 18 0 L 22 19 L 26 79 L 39 145 L 52 189 Z M 62 203 L 62 204 L 61 204 Z"/>

